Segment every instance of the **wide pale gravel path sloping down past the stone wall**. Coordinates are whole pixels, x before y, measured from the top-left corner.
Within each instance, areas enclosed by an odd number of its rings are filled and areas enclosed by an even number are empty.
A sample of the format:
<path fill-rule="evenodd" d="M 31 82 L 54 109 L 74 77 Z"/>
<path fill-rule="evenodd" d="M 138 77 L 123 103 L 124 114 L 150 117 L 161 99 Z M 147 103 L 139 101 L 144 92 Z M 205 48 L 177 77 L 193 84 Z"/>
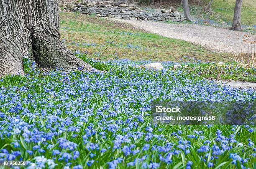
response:
<path fill-rule="evenodd" d="M 231 31 L 219 27 L 193 25 L 193 24 L 171 24 L 163 22 L 138 21 L 113 19 L 117 22 L 125 22 L 136 28 L 147 32 L 156 33 L 161 36 L 181 39 L 202 45 L 215 52 L 241 52 L 243 36 L 250 35 L 251 39 L 256 36 L 245 32 Z M 247 52 L 247 47 L 246 51 Z"/>

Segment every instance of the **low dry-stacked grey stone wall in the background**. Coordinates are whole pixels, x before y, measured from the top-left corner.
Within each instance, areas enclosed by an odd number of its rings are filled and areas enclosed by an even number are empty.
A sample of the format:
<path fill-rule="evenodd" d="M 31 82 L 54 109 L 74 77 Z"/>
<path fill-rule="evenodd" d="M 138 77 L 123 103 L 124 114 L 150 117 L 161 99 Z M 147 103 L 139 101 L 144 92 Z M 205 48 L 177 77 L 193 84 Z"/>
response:
<path fill-rule="evenodd" d="M 82 0 L 81 2 L 74 4 L 72 7 L 64 6 L 61 7 L 61 9 L 71 12 L 80 12 L 86 15 L 128 20 L 184 21 L 184 17 L 182 17 L 178 12 L 175 12 L 173 7 L 169 10 L 162 9 L 159 12 L 150 13 L 145 10 L 141 10 L 134 4 L 127 4 L 122 1 Z"/>

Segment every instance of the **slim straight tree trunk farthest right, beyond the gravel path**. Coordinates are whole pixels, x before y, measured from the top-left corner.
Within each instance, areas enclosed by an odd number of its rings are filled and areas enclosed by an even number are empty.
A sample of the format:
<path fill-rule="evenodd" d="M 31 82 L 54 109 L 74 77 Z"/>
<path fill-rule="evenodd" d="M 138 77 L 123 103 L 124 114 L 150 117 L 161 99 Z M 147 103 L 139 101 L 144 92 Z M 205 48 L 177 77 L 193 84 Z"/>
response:
<path fill-rule="evenodd" d="M 241 10 L 242 10 L 242 0 L 236 0 L 236 6 L 234 10 L 234 19 L 233 19 L 231 30 L 242 30 Z"/>

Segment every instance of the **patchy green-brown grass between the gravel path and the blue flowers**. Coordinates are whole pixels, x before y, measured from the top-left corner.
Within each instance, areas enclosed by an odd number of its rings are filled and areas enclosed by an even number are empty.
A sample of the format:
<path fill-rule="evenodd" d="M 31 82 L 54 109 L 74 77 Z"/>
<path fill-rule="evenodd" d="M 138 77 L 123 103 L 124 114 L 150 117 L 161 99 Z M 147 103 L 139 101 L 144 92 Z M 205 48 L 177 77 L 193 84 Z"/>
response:
<path fill-rule="evenodd" d="M 61 39 L 70 50 L 86 52 L 95 59 L 117 34 L 119 35 L 114 43 L 104 53 L 103 60 L 125 58 L 179 61 L 180 58 L 189 56 L 202 61 L 227 61 L 230 57 L 230 54 L 211 52 L 184 40 L 135 30 L 130 25 L 117 24 L 106 18 L 61 12 L 60 25 Z"/>

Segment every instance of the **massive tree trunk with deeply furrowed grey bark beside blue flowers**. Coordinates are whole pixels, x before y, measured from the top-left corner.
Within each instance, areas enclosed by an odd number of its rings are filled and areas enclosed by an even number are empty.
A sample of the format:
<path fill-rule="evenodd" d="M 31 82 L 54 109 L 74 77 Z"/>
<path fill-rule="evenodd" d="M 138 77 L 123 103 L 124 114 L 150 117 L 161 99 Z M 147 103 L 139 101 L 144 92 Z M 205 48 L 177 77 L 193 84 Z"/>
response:
<path fill-rule="evenodd" d="M 100 72 L 61 43 L 58 12 L 57 0 L 0 0 L 0 76 L 24 75 L 24 56 L 46 70 Z"/>

